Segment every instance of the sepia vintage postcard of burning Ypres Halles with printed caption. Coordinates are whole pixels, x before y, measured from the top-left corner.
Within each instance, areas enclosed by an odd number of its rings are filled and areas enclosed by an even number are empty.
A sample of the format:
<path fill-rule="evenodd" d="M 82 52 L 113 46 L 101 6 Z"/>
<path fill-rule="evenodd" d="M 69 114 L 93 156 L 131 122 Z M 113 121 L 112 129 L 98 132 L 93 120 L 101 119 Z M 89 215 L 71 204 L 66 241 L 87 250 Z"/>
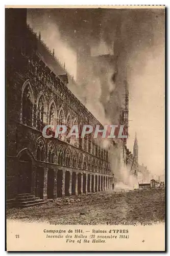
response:
<path fill-rule="evenodd" d="M 165 251 L 165 6 L 6 6 L 6 250 Z"/>

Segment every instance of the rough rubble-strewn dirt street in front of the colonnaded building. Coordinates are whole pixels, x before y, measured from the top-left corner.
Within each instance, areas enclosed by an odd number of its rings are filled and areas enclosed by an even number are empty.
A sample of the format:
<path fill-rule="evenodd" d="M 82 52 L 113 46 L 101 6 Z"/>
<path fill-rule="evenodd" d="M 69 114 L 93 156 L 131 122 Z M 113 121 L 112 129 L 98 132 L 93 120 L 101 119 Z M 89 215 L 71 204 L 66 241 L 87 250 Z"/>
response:
<path fill-rule="evenodd" d="M 163 222 L 165 189 L 103 191 L 48 200 L 28 208 L 7 209 L 7 219 L 24 221 Z"/>

